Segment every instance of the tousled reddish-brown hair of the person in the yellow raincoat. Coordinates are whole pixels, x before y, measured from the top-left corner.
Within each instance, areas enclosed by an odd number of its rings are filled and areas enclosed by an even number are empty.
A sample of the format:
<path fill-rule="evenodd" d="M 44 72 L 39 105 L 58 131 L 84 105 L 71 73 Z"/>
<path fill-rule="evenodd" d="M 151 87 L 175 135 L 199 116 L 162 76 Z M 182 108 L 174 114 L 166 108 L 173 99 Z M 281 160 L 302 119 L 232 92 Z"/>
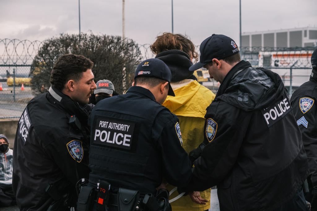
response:
<path fill-rule="evenodd" d="M 198 53 L 195 51 L 195 45 L 188 39 L 187 35 L 172 34 L 164 32 L 156 37 L 156 41 L 150 46 L 154 54 L 159 54 L 167 50 L 181 50 L 198 61 Z"/>

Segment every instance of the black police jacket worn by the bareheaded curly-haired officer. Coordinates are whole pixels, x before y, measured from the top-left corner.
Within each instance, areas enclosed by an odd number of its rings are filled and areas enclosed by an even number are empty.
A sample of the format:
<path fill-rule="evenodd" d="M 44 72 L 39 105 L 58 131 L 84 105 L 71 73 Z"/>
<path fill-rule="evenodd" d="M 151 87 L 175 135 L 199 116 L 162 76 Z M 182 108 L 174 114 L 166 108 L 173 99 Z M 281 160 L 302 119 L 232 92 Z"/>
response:
<path fill-rule="evenodd" d="M 28 103 L 13 151 L 12 188 L 20 210 L 47 210 L 66 193 L 72 198 L 76 182 L 88 177 L 90 109 L 54 87 Z M 81 129 L 68 123 L 71 115 L 79 119 Z M 49 184 L 53 184 L 49 191 L 53 197 L 45 191 Z"/>

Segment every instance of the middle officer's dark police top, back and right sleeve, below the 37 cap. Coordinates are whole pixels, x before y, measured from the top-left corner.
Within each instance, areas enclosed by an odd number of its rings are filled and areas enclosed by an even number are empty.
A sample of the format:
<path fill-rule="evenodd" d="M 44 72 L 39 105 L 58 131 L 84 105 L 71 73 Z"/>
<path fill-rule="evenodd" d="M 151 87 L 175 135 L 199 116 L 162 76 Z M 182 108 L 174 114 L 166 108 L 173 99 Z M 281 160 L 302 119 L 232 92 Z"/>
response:
<path fill-rule="evenodd" d="M 178 118 L 141 86 L 101 100 L 92 109 L 89 184 L 107 181 L 155 194 L 162 177 L 175 186 L 191 179 L 191 163 L 182 147 Z"/>

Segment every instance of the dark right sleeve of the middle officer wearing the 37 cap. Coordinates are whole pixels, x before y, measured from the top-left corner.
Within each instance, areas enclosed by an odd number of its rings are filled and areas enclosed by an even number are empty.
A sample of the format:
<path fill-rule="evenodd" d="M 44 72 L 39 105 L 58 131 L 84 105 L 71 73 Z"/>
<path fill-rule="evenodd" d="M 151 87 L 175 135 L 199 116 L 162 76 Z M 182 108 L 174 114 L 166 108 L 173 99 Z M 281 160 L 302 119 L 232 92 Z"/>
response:
<path fill-rule="evenodd" d="M 177 133 L 176 125 L 179 120 L 174 115 L 170 117 L 167 121 L 157 120 L 153 134 L 157 136 L 157 149 L 162 155 L 163 177 L 171 185 L 184 186 L 191 179 L 191 162 Z M 160 125 L 162 127 L 159 127 Z"/>

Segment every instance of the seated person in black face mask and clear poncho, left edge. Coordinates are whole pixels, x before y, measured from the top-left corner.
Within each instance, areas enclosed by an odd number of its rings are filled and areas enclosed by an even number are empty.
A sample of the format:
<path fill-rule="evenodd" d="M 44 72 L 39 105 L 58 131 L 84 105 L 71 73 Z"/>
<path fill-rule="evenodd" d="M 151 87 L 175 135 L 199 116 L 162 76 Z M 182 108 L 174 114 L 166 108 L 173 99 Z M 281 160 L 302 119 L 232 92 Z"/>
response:
<path fill-rule="evenodd" d="M 0 207 L 16 204 L 12 191 L 12 160 L 8 138 L 0 134 Z"/>

